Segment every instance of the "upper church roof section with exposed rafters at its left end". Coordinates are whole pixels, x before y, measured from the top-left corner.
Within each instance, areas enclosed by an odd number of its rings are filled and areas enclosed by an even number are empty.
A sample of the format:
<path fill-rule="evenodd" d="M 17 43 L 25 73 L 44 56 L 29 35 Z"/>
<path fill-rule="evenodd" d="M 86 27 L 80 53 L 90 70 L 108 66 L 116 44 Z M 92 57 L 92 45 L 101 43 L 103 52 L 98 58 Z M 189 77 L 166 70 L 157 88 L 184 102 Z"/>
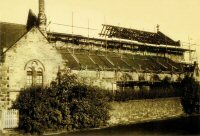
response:
<path fill-rule="evenodd" d="M 180 41 L 174 41 L 160 31 L 153 33 L 106 24 L 103 24 L 100 36 L 134 40 L 142 43 L 180 46 Z"/>

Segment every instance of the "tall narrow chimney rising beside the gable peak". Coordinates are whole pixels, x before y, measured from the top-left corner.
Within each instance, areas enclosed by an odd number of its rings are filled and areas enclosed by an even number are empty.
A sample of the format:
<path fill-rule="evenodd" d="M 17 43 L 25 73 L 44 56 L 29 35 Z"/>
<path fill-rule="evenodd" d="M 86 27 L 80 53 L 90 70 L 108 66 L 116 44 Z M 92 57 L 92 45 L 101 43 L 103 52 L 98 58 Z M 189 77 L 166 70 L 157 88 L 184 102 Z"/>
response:
<path fill-rule="evenodd" d="M 38 26 L 39 29 L 46 35 L 46 15 L 44 0 L 39 0 Z"/>

